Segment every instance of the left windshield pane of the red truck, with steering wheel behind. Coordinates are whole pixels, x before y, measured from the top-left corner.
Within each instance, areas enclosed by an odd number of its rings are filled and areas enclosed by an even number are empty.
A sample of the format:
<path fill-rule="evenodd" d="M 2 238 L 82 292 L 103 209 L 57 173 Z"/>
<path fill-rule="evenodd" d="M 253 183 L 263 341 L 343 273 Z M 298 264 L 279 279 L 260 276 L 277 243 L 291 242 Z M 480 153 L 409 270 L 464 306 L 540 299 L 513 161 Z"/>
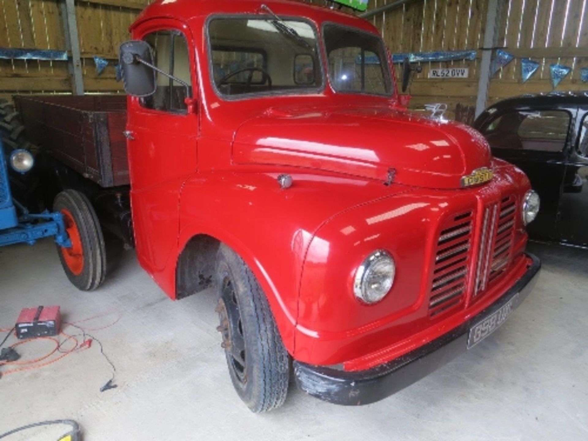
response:
<path fill-rule="evenodd" d="M 222 95 L 316 91 L 316 32 L 301 20 L 215 18 L 208 25 L 212 81 Z"/>

